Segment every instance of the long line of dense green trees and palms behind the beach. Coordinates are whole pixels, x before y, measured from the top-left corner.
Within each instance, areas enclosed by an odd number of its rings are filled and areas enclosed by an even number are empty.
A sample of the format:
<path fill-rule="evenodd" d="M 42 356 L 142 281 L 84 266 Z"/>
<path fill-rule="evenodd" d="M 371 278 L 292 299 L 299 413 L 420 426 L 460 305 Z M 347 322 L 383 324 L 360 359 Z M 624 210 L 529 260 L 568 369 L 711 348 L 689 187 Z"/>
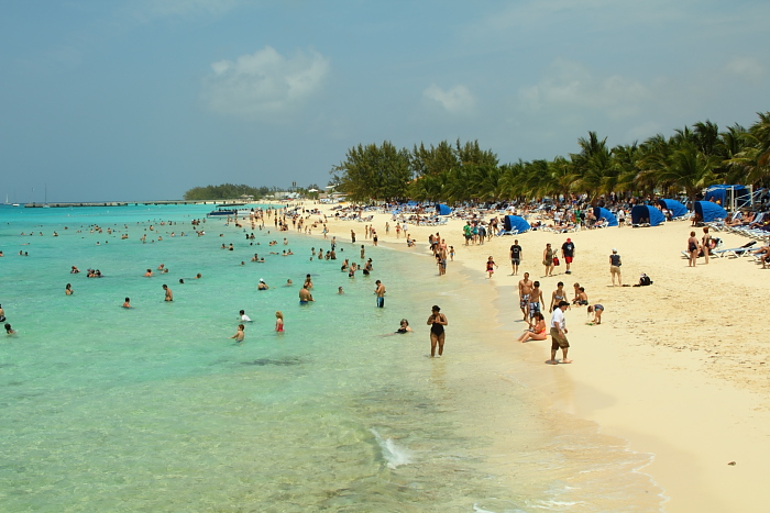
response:
<path fill-rule="evenodd" d="M 770 112 L 749 129 L 719 131 L 711 122 L 657 134 L 642 143 L 610 147 L 595 132 L 578 140 L 569 156 L 499 164 L 479 142 L 411 150 L 392 143 L 359 144 L 332 167 L 331 185 L 352 201 L 414 199 L 447 203 L 534 200 L 586 194 L 593 202 L 609 193 L 679 196 L 694 199 L 715 183 L 770 185 Z"/>

